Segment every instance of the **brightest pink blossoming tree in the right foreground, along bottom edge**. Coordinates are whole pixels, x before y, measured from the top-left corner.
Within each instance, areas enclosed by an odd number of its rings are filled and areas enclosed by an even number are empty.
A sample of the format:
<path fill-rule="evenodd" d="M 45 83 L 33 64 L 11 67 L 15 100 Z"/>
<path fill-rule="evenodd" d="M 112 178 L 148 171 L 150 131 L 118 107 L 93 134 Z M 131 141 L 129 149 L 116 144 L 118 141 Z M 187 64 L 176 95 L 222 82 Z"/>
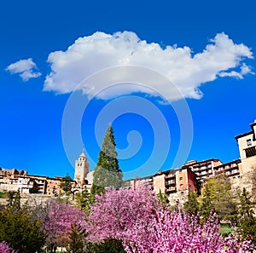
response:
<path fill-rule="evenodd" d="M 250 242 L 241 240 L 238 234 L 224 239 L 218 233 L 218 221 L 213 218 L 201 226 L 195 216 L 165 209 L 157 212 L 151 221 L 137 223 L 133 229 L 127 230 L 123 242 L 129 253 L 253 252 Z"/>

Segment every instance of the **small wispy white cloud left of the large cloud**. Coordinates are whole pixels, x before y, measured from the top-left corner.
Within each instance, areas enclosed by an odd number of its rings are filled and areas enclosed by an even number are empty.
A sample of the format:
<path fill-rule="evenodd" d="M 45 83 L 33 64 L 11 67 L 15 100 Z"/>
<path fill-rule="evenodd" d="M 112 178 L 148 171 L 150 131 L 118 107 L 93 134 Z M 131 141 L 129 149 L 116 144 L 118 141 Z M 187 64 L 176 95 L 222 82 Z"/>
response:
<path fill-rule="evenodd" d="M 28 81 L 30 78 L 38 78 L 41 73 L 38 72 L 37 65 L 33 62 L 32 58 L 27 60 L 18 60 L 15 63 L 10 64 L 6 71 L 11 74 L 19 74 L 23 81 Z"/>

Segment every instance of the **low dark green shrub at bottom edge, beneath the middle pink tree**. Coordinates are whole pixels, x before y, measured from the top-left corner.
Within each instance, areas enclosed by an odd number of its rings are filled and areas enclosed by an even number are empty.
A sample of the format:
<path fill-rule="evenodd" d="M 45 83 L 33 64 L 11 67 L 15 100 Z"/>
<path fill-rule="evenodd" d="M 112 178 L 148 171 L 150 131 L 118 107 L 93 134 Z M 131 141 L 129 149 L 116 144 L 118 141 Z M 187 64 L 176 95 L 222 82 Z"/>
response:
<path fill-rule="evenodd" d="M 117 239 L 106 239 L 102 243 L 88 244 L 85 253 L 125 253 L 124 246 Z"/>

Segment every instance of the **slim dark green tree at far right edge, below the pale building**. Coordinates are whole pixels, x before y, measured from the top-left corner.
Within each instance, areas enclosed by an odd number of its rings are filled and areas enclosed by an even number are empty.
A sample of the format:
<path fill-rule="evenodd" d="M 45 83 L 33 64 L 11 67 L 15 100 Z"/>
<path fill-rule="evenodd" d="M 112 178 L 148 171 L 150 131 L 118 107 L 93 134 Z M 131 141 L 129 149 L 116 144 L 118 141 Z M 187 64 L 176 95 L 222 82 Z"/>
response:
<path fill-rule="evenodd" d="M 247 192 L 246 188 L 242 189 L 239 196 L 239 221 L 240 231 L 243 238 L 251 237 L 253 243 L 256 244 L 256 217 L 254 216 L 255 205 L 252 196 Z"/>

